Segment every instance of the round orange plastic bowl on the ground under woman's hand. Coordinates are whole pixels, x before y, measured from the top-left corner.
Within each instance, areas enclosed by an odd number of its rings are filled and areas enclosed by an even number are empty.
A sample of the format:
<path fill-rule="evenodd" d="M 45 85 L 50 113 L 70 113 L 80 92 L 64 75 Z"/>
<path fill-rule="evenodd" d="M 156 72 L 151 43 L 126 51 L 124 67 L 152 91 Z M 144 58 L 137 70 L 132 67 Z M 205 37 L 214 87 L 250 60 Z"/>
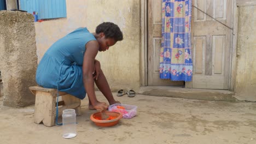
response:
<path fill-rule="evenodd" d="M 101 117 L 101 112 L 96 112 L 96 113 L 91 114 L 90 119 L 92 122 L 94 122 L 99 127 L 112 127 L 112 126 L 118 124 L 119 120 L 123 117 L 123 115 L 119 112 L 105 111 L 105 113 L 108 116 L 113 116 L 116 118 L 110 119 L 110 120 L 98 120 L 98 119 L 95 119 L 95 117 Z"/>

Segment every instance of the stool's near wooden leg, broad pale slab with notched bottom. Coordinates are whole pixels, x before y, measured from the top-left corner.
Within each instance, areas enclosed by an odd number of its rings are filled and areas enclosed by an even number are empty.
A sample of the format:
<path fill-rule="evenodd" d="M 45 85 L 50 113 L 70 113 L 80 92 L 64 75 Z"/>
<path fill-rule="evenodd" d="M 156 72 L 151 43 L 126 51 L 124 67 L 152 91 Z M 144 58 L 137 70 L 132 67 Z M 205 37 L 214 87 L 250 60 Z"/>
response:
<path fill-rule="evenodd" d="M 55 98 L 48 92 L 36 92 L 34 109 L 34 122 L 44 123 L 47 127 L 52 127 L 55 120 Z"/>

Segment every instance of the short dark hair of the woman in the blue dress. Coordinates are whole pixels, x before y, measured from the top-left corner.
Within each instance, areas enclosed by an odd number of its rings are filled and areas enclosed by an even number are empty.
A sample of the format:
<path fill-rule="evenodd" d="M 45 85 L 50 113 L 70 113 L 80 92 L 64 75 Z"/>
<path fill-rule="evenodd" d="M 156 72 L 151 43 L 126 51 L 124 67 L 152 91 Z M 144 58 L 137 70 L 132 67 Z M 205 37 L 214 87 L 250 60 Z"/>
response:
<path fill-rule="evenodd" d="M 115 41 L 123 40 L 123 33 L 120 28 L 112 22 L 103 22 L 98 25 L 96 27 L 96 33 L 101 32 L 105 34 L 105 38 L 113 38 Z"/>

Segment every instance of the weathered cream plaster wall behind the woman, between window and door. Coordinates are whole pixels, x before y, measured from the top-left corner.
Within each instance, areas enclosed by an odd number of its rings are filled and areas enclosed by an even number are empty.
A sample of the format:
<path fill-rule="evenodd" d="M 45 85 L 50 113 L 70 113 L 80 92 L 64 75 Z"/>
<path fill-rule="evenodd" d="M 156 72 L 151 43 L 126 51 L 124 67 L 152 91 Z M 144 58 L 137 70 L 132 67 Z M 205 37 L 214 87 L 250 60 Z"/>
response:
<path fill-rule="evenodd" d="M 38 61 L 51 44 L 74 29 L 88 27 L 95 32 L 98 24 L 114 22 L 123 31 L 124 40 L 99 52 L 96 59 L 113 90 L 139 87 L 140 1 L 66 0 L 66 5 L 66 18 L 35 23 Z"/>

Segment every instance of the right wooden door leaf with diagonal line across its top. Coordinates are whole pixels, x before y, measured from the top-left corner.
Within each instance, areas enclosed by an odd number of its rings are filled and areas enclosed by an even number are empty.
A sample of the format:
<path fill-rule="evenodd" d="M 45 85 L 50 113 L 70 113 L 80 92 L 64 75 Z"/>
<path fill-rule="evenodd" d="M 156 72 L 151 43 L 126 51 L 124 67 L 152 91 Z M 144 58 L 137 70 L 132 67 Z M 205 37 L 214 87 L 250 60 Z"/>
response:
<path fill-rule="evenodd" d="M 193 5 L 228 27 L 232 0 L 193 0 Z M 231 30 L 193 7 L 193 88 L 228 89 Z"/>

